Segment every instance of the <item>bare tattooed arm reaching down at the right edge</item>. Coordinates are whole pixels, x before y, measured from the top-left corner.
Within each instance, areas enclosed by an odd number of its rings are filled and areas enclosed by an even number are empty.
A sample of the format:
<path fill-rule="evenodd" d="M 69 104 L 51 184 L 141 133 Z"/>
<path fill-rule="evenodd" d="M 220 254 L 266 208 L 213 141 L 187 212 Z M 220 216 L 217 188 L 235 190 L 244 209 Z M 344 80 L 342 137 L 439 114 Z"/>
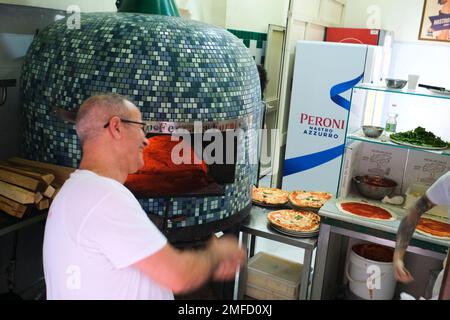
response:
<path fill-rule="evenodd" d="M 414 207 L 409 210 L 409 213 L 400 223 L 397 231 L 397 242 L 394 252 L 395 277 L 398 281 L 410 282 L 413 280 L 413 277 L 409 273 L 408 269 L 405 268 L 403 262 L 406 248 L 411 241 L 420 217 L 433 207 L 434 204 L 427 198 L 426 195 L 423 195 L 419 200 L 417 200 Z"/>

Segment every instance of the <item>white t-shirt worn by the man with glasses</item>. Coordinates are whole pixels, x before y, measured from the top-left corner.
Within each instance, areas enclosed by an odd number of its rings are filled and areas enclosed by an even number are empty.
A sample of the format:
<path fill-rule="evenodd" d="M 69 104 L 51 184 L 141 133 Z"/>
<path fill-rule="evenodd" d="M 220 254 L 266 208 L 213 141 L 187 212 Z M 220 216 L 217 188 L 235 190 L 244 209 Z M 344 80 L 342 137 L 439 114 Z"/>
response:
<path fill-rule="evenodd" d="M 47 299 L 173 299 L 170 289 L 132 266 L 166 243 L 125 186 L 76 170 L 45 226 Z"/>

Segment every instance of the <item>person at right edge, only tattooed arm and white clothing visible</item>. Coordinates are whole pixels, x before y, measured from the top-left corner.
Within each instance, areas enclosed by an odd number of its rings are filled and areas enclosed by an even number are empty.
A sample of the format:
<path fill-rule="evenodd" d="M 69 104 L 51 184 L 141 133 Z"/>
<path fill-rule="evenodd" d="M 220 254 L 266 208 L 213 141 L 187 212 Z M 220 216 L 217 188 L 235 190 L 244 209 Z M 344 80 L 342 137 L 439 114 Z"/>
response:
<path fill-rule="evenodd" d="M 436 205 L 450 205 L 450 171 L 440 177 L 411 208 L 409 213 L 402 219 L 397 231 L 397 242 L 394 252 L 394 274 L 395 278 L 400 282 L 411 282 L 414 278 L 404 265 L 404 256 L 406 248 L 416 229 L 420 217 L 428 210 Z M 449 209 L 450 210 L 450 209 Z M 449 211 L 450 218 L 450 211 Z M 444 261 L 445 266 L 445 261 Z M 442 283 L 443 271 L 436 279 L 433 288 L 433 297 L 439 294 Z"/>

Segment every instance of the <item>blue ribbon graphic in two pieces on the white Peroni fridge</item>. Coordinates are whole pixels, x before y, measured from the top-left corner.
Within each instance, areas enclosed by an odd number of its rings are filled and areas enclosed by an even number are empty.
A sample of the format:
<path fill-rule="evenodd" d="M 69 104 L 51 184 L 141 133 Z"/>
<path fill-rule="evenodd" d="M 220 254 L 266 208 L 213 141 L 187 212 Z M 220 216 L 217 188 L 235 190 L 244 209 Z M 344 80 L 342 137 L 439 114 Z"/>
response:
<path fill-rule="evenodd" d="M 364 73 L 359 77 L 339 83 L 330 89 L 330 98 L 336 103 L 338 106 L 344 108 L 345 110 L 350 110 L 350 101 L 340 96 L 341 93 L 344 93 L 351 88 L 353 88 L 358 82 L 362 80 L 364 77 Z M 345 145 L 341 144 L 340 146 L 327 149 L 324 151 L 320 151 L 317 153 L 309 154 L 306 156 L 301 156 L 297 158 L 287 159 L 284 161 L 283 167 L 283 176 L 289 176 L 294 173 L 306 171 L 315 167 L 318 167 L 324 163 L 327 163 L 344 153 Z"/>

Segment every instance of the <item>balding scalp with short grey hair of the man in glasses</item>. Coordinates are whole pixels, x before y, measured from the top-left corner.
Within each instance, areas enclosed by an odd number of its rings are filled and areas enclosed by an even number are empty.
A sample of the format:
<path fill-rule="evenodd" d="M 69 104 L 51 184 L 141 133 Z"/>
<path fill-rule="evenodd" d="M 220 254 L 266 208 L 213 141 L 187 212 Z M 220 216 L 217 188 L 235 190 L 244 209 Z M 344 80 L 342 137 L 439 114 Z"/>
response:
<path fill-rule="evenodd" d="M 96 138 L 112 117 L 129 118 L 133 108 L 136 107 L 127 98 L 114 93 L 95 95 L 84 101 L 76 119 L 81 144 Z"/>

